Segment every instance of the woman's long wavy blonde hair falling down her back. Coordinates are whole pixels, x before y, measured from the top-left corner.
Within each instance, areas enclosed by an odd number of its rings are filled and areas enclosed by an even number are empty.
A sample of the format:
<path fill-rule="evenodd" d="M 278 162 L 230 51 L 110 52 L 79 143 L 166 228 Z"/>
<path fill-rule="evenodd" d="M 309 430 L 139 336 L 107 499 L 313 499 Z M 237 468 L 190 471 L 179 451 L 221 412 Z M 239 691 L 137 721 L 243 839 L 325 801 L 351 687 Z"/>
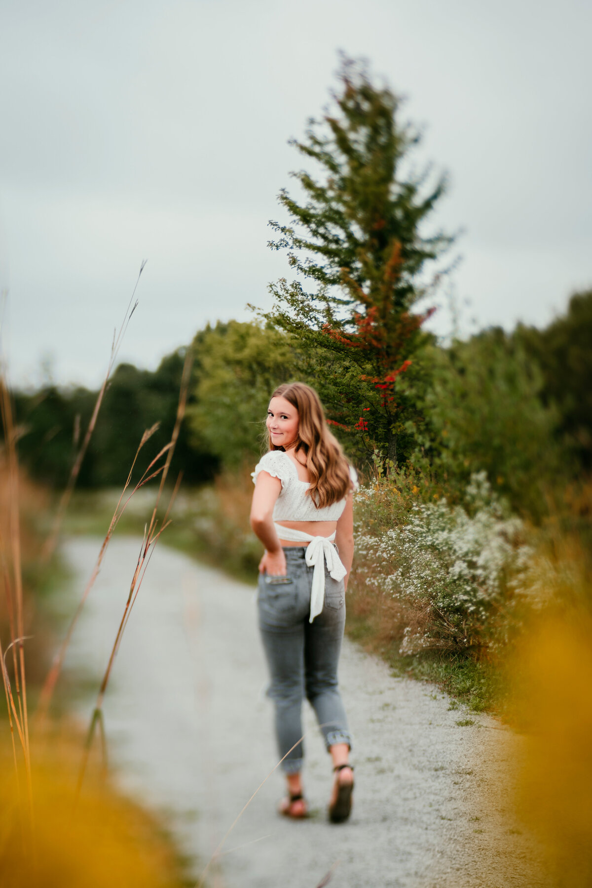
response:
<path fill-rule="evenodd" d="M 284 383 L 272 393 L 272 398 L 285 398 L 298 411 L 296 450 L 302 450 L 306 456 L 312 502 L 322 509 L 343 499 L 351 487 L 350 466 L 339 441 L 328 430 L 317 392 L 304 383 Z M 270 450 L 284 449 L 272 444 L 271 435 L 268 446 Z"/>

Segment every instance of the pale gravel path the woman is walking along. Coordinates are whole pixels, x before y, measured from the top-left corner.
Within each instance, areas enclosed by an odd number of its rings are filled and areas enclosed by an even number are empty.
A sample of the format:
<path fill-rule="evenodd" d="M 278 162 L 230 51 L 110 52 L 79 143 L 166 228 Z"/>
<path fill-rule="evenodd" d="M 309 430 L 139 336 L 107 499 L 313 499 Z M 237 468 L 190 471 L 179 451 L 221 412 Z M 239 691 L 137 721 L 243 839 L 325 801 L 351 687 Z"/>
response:
<path fill-rule="evenodd" d="M 65 544 L 71 605 L 99 544 Z M 68 654 L 67 667 L 95 689 L 139 545 L 130 537 L 110 544 Z M 535 846 L 509 812 L 505 775 L 519 739 L 493 718 L 450 710 L 433 686 L 391 677 L 347 640 L 340 675 L 356 740 L 351 820 L 326 820 L 330 769 L 307 706 L 312 818 L 276 815 L 282 781 L 273 773 L 228 836 L 209 884 L 316 888 L 329 871 L 335 888 L 546 884 L 533 876 Z M 275 764 L 265 682 L 254 588 L 157 549 L 107 692 L 107 737 L 122 786 L 163 814 L 196 876 Z M 85 720 L 91 700 L 78 704 Z M 457 725 L 464 718 L 475 724 Z"/>

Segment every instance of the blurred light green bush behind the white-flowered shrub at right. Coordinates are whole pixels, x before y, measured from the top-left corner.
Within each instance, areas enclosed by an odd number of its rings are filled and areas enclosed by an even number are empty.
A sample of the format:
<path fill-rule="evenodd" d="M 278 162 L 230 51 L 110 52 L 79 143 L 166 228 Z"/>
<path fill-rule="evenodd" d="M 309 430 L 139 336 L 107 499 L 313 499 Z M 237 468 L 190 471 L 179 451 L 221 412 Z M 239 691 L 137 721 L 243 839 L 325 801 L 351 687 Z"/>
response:
<path fill-rule="evenodd" d="M 517 511 L 544 514 L 563 467 L 557 411 L 541 400 L 542 385 L 536 361 L 501 329 L 435 350 L 426 452 L 445 486 L 458 494 L 485 470 Z"/>

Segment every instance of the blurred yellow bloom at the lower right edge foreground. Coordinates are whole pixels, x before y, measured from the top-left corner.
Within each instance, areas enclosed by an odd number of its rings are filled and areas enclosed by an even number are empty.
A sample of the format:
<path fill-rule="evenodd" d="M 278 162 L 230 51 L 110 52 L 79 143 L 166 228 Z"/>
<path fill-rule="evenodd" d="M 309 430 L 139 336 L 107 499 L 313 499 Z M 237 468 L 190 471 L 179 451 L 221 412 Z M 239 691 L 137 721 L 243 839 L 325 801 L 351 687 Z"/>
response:
<path fill-rule="evenodd" d="M 592 621 L 557 614 L 528 634 L 512 672 L 527 731 L 518 813 L 540 836 L 557 885 L 592 884 Z"/>

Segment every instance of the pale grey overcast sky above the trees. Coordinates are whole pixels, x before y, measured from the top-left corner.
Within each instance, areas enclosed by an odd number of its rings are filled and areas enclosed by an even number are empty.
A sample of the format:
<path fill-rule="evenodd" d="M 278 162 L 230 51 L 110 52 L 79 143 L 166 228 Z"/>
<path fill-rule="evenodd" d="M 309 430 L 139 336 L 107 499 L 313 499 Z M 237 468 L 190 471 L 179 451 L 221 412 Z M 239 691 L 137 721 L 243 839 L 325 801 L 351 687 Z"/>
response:
<path fill-rule="evenodd" d="M 327 104 L 338 49 L 407 97 L 449 175 L 434 222 L 463 229 L 464 332 L 545 324 L 592 286 L 588 0 L 0 0 L 0 40 L 13 383 L 45 364 L 97 385 L 143 258 L 121 360 L 154 369 L 270 305 L 289 270 L 267 222 L 302 163 L 287 140 Z"/>

